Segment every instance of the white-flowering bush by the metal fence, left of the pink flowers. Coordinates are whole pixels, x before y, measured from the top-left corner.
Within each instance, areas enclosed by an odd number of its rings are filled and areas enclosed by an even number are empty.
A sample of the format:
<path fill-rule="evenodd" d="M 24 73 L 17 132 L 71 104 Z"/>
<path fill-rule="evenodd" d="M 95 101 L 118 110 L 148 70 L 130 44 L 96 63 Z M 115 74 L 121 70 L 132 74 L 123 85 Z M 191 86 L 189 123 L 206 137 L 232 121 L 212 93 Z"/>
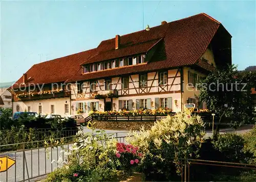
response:
<path fill-rule="evenodd" d="M 50 173 L 46 181 L 118 181 L 125 172 L 116 169 L 116 140 L 108 140 L 103 132 L 98 134 L 78 131 L 73 146 L 60 156 L 59 169 Z M 53 143 L 58 143 L 52 140 Z M 46 147 L 52 146 L 46 142 Z"/>

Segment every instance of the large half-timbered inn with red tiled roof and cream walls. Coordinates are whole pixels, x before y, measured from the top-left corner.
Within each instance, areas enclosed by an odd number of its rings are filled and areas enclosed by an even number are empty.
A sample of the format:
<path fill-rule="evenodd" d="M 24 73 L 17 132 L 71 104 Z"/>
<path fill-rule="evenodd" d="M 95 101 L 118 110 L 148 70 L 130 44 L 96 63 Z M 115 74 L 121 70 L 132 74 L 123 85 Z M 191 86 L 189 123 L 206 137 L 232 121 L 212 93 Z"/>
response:
<path fill-rule="evenodd" d="M 181 111 L 186 103 L 206 108 L 196 98 L 196 83 L 227 64 L 231 35 L 219 21 L 205 13 L 162 21 L 150 30 L 103 40 L 95 49 L 33 65 L 10 88 L 13 111 L 87 116 L 94 109 Z"/>

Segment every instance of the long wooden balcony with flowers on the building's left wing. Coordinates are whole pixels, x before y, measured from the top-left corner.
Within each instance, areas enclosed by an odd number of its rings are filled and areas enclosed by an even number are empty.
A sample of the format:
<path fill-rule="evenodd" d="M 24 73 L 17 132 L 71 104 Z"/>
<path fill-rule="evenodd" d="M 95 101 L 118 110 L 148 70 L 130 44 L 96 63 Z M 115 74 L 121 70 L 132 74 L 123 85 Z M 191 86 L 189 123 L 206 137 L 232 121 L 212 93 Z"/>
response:
<path fill-rule="evenodd" d="M 70 91 L 59 91 L 51 92 L 45 91 L 41 93 L 23 93 L 16 96 L 18 101 L 31 101 L 31 100 L 42 100 L 42 99 L 54 99 L 54 98 L 64 98 L 70 97 Z"/>

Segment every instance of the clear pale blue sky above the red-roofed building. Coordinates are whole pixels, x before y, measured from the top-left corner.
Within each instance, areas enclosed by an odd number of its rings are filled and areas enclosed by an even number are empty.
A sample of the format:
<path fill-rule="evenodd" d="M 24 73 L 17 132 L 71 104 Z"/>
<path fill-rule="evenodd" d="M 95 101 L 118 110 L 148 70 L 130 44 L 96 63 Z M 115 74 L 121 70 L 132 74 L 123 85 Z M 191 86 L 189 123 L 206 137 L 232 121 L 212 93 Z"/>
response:
<path fill-rule="evenodd" d="M 202 12 L 232 35 L 232 63 L 239 70 L 256 65 L 255 1 L 0 0 L 0 6 L 0 82 L 16 81 L 33 64 L 93 49 L 117 34 Z"/>

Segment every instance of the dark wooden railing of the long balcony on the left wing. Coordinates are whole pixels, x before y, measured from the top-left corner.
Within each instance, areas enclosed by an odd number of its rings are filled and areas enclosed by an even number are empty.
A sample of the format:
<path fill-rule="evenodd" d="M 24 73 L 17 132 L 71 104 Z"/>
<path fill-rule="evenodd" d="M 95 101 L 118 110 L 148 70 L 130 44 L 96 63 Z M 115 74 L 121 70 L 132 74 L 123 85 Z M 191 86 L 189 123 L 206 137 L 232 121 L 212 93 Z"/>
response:
<path fill-rule="evenodd" d="M 63 97 L 70 97 L 71 92 L 59 92 L 53 94 L 42 94 L 42 95 L 34 95 L 34 96 L 27 96 L 23 98 L 17 98 L 18 101 L 31 101 L 31 100 L 41 100 L 41 99 L 54 99 L 54 98 L 63 98 Z M 15 99 L 16 100 L 16 99 Z"/>

